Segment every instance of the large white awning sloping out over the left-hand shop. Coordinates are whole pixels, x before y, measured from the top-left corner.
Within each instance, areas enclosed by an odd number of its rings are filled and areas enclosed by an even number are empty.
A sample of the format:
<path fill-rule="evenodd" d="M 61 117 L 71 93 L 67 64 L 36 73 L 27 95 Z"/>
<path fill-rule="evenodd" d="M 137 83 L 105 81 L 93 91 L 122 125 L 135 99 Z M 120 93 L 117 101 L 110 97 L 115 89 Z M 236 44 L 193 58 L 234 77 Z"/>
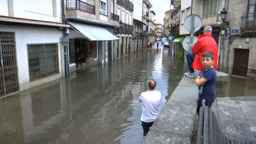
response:
<path fill-rule="evenodd" d="M 88 40 L 119 40 L 120 38 L 116 37 L 112 33 L 110 33 L 107 29 L 99 27 L 99 26 L 91 26 L 88 24 L 79 24 L 76 22 L 68 22 L 71 24 L 71 27 L 88 38 Z"/>

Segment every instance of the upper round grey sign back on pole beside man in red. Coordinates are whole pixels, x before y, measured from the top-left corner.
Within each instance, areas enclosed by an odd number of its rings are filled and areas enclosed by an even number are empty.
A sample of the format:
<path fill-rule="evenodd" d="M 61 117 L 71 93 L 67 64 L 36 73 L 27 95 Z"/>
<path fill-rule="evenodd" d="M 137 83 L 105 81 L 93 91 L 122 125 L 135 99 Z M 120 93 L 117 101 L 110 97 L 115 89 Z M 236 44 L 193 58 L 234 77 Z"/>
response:
<path fill-rule="evenodd" d="M 195 14 L 193 14 L 193 15 L 195 15 Z M 184 20 L 184 28 L 187 31 L 189 31 L 189 32 L 191 32 L 191 23 L 192 23 L 191 20 L 193 18 L 193 15 L 189 15 Z M 194 31 L 193 32 L 198 31 L 201 27 L 202 27 L 202 19 L 198 15 L 195 15 L 195 18 L 194 18 Z"/>

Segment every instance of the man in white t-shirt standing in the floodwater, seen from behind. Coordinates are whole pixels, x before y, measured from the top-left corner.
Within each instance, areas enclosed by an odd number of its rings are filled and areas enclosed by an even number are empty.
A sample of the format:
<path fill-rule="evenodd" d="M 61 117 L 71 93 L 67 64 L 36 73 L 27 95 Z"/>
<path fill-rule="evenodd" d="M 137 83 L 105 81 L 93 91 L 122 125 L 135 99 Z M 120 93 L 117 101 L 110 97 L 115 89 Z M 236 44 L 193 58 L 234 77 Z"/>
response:
<path fill-rule="evenodd" d="M 156 91 L 156 81 L 150 79 L 148 81 L 148 91 L 142 92 L 140 95 L 140 102 L 143 104 L 142 115 L 141 115 L 141 126 L 143 127 L 143 140 L 149 131 L 157 116 L 159 115 L 159 104 L 161 101 L 161 93 Z"/>

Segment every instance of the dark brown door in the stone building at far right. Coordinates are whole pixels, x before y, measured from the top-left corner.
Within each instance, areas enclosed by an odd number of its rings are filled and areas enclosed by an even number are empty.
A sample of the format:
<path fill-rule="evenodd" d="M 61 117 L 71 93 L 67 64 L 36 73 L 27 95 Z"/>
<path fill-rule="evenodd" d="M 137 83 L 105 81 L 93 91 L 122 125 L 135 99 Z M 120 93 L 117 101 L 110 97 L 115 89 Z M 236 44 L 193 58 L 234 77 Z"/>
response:
<path fill-rule="evenodd" d="M 249 49 L 235 49 L 233 75 L 247 77 Z"/>

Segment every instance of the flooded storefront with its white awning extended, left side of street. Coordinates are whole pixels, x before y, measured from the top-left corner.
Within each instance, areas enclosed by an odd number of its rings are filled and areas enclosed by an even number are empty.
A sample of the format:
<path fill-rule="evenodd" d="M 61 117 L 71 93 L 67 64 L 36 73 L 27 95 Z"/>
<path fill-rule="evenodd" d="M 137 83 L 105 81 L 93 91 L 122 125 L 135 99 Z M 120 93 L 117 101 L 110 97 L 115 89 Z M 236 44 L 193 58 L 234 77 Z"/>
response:
<path fill-rule="evenodd" d="M 118 40 L 118 37 L 100 26 L 78 22 L 68 23 L 71 25 L 68 37 L 70 40 L 70 72 L 74 70 L 71 67 L 74 67 L 77 62 L 80 63 L 79 67 L 108 62 L 109 50 L 112 51 L 109 47 L 112 47 L 111 43 L 113 40 Z M 77 50 L 79 50 L 79 60 L 76 56 Z"/>

